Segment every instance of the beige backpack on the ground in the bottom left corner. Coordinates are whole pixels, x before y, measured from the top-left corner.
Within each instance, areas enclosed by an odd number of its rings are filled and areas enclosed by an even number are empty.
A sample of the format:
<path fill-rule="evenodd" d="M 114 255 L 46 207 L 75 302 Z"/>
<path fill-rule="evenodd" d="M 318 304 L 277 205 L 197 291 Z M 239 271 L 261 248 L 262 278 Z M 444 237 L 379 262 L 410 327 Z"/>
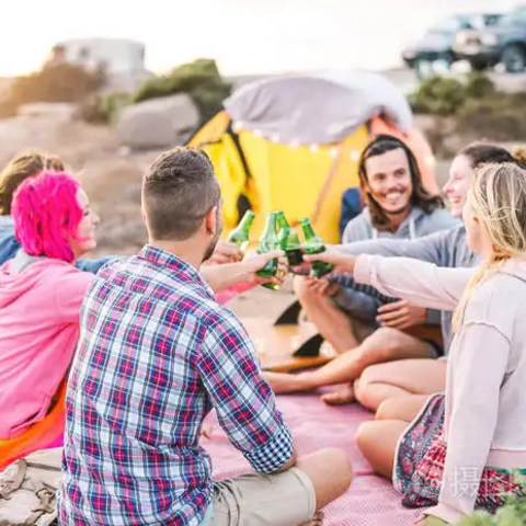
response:
<path fill-rule="evenodd" d="M 62 449 L 33 453 L 0 472 L 0 526 L 52 526 L 57 521 Z"/>

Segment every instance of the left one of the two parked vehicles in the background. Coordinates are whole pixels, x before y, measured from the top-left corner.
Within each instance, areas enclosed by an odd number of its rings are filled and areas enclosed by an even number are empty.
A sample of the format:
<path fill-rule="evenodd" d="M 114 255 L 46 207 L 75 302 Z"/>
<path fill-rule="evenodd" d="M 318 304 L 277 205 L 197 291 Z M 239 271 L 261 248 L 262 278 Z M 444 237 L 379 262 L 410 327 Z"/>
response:
<path fill-rule="evenodd" d="M 430 27 L 420 41 L 408 46 L 402 52 L 402 59 L 407 66 L 414 68 L 418 75 L 432 69 L 434 62 L 441 62 L 448 68 L 458 59 L 454 50 L 457 34 L 466 30 L 484 30 L 495 24 L 500 16 L 499 13 L 448 16 Z"/>

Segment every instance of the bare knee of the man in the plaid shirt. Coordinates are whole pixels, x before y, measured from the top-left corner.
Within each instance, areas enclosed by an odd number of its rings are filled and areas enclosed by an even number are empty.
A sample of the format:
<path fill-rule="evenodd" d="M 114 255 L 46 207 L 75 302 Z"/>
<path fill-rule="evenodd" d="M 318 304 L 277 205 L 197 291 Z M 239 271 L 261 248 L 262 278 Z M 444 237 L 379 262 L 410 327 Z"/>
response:
<path fill-rule="evenodd" d="M 299 457 L 296 467 L 315 487 L 317 510 L 345 493 L 353 480 L 351 462 L 343 449 L 327 448 Z"/>

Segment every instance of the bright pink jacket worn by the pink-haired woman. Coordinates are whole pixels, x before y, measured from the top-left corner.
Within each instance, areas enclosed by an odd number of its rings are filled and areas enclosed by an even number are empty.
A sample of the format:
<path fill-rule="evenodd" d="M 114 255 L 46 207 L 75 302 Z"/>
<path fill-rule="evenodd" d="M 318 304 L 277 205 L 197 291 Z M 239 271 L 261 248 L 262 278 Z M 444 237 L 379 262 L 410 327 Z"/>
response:
<path fill-rule="evenodd" d="M 94 275 L 20 251 L 0 266 L 0 438 L 44 418 L 68 371 Z"/>

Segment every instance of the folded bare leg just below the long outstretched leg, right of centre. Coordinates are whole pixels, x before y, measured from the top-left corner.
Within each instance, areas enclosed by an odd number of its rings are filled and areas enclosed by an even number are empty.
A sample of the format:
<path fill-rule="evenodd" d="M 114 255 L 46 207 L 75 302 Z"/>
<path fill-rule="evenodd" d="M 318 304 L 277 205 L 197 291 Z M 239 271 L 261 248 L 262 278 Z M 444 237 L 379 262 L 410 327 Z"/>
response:
<path fill-rule="evenodd" d="M 433 395 L 446 386 L 447 362 L 402 359 L 367 367 L 354 386 L 362 405 L 376 411 L 384 400 L 407 395 Z"/>

